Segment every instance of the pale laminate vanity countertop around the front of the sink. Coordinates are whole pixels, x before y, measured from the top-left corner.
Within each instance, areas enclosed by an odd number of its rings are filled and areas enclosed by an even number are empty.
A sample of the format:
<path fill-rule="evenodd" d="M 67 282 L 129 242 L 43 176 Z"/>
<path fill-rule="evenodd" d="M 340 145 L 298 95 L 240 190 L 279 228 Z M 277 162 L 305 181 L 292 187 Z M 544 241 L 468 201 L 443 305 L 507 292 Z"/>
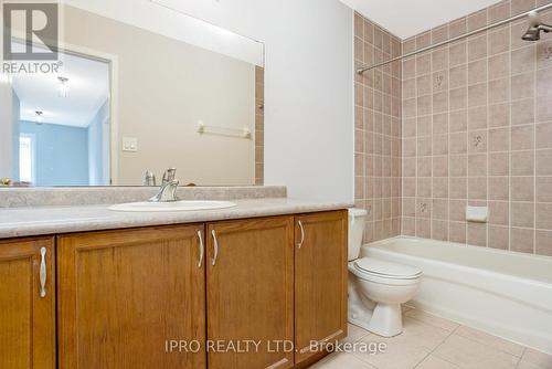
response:
<path fill-rule="evenodd" d="M 0 209 L 0 239 L 134 226 L 197 223 L 352 208 L 349 202 L 304 201 L 289 198 L 232 200 L 237 207 L 182 212 L 117 212 L 109 205 Z"/>

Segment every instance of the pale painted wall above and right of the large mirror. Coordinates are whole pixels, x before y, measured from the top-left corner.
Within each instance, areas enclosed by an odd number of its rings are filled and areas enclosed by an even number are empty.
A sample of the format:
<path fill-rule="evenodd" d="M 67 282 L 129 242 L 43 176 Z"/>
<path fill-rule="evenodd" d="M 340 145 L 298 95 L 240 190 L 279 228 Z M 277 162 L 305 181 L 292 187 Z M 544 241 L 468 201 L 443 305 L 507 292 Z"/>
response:
<path fill-rule="evenodd" d="M 114 1 L 70 2 L 116 13 Z M 352 201 L 352 10 L 338 0 L 163 2 L 265 43 L 265 183 Z"/>

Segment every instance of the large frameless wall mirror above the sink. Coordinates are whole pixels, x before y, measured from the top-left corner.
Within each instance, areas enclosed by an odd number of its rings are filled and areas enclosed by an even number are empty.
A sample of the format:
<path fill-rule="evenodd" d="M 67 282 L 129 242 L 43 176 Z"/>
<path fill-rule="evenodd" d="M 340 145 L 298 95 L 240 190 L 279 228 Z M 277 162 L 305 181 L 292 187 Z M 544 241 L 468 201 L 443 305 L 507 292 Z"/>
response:
<path fill-rule="evenodd" d="M 263 183 L 262 43 L 163 0 L 64 1 L 55 34 L 33 9 L 31 39 L 26 9 L 2 11 L 4 186 L 153 186 L 171 167 L 181 184 Z"/>

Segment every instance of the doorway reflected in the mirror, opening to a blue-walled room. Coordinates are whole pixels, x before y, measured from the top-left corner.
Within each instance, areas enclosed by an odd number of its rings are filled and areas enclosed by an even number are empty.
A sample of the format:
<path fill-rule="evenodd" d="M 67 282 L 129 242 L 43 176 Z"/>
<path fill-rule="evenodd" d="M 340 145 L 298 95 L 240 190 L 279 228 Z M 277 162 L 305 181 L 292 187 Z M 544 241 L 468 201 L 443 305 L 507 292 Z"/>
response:
<path fill-rule="evenodd" d="M 60 52 L 59 57 L 63 68 L 57 73 L 12 77 L 12 109 L 22 137 L 20 181 L 39 187 L 109 184 L 109 63 L 75 53 Z"/>

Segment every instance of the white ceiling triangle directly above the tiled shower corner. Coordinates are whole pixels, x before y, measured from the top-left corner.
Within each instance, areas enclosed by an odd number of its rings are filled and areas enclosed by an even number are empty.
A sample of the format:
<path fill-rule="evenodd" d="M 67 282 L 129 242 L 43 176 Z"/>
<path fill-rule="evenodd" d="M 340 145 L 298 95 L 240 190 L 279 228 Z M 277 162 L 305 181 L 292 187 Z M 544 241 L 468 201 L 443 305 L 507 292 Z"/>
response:
<path fill-rule="evenodd" d="M 341 0 L 341 2 L 404 40 L 500 0 Z"/>

